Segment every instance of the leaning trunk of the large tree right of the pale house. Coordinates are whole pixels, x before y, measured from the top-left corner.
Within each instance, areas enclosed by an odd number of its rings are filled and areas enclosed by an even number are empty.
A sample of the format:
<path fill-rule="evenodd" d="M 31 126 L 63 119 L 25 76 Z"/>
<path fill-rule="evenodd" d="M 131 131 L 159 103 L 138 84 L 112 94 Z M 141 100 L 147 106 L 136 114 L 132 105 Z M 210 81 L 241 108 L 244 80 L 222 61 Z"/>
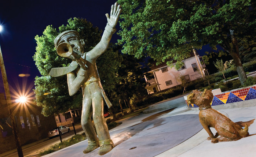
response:
<path fill-rule="evenodd" d="M 244 82 L 246 81 L 247 76 L 242 66 L 241 58 L 239 55 L 238 42 L 237 42 L 237 39 L 235 38 L 234 30 L 230 30 L 230 35 L 231 35 L 233 48 L 229 51 L 229 53 L 234 59 L 235 67 L 237 69 L 237 73 L 238 73 L 241 85 L 244 85 Z"/>

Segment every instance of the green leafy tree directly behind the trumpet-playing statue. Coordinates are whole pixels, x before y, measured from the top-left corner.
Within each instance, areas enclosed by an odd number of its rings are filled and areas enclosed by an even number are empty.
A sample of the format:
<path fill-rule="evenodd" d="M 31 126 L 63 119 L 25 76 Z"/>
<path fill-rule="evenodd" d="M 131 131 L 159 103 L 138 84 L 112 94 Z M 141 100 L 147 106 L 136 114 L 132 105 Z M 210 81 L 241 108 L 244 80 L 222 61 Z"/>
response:
<path fill-rule="evenodd" d="M 81 89 L 74 96 L 69 96 L 65 75 L 56 78 L 48 76 L 51 68 L 66 67 L 71 63 L 71 60 L 60 57 L 56 53 L 55 37 L 63 31 L 76 30 L 85 41 L 85 52 L 98 44 L 101 38 L 102 31 L 98 27 L 93 27 L 92 23 L 86 19 L 70 18 L 67 22 L 66 26 L 59 27 L 59 31 L 52 26 L 47 26 L 42 36 L 36 35 L 35 37 L 37 46 L 33 58 L 42 75 L 36 77 L 35 102 L 43 107 L 42 113 L 44 116 L 66 112 L 68 109 L 81 108 L 83 98 Z M 99 70 L 99 75 L 102 79 L 102 86 L 106 91 L 111 91 L 114 82 L 117 82 L 116 73 L 120 61 L 120 55 L 112 48 L 108 48 L 97 60 L 97 66 L 102 68 L 102 70 Z"/>

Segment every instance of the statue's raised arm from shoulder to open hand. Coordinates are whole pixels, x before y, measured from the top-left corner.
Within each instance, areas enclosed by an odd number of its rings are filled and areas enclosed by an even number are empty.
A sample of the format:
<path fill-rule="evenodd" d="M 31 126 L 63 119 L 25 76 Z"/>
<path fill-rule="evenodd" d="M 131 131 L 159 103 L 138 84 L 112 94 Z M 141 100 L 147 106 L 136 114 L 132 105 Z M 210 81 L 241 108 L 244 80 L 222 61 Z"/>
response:
<path fill-rule="evenodd" d="M 121 13 L 121 6 L 115 3 L 111 6 L 110 16 L 106 14 L 107 25 L 105 31 L 102 35 L 100 42 L 89 52 L 87 52 L 86 57 L 90 59 L 97 59 L 102 53 L 104 53 L 109 46 L 110 39 L 112 35 L 116 32 L 116 25 Z"/>

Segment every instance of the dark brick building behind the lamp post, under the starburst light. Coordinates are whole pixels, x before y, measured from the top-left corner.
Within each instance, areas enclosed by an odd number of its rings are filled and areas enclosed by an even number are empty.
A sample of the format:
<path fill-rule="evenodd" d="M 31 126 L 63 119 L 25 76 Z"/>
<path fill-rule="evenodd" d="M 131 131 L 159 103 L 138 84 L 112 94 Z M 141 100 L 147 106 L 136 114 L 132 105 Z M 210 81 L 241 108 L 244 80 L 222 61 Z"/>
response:
<path fill-rule="evenodd" d="M 41 108 L 35 104 L 13 104 L 14 119 L 21 145 L 26 145 L 47 137 L 47 132 L 57 127 L 54 116 L 44 117 Z M 6 98 L 0 93 L 0 154 L 16 149 L 16 143 L 11 128 Z"/>

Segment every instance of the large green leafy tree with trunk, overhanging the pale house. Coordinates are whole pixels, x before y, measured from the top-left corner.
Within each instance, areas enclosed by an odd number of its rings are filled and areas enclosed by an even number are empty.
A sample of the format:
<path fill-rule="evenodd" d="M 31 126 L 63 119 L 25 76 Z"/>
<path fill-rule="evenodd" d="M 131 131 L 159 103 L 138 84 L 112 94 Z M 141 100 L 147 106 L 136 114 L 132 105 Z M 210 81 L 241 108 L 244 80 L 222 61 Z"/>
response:
<path fill-rule="evenodd" d="M 239 47 L 255 45 L 255 1 L 251 0 L 118 0 L 123 53 L 180 63 L 192 47 L 209 44 L 234 59 L 241 84 L 246 80 Z M 177 64 L 178 65 L 178 64 Z"/>

